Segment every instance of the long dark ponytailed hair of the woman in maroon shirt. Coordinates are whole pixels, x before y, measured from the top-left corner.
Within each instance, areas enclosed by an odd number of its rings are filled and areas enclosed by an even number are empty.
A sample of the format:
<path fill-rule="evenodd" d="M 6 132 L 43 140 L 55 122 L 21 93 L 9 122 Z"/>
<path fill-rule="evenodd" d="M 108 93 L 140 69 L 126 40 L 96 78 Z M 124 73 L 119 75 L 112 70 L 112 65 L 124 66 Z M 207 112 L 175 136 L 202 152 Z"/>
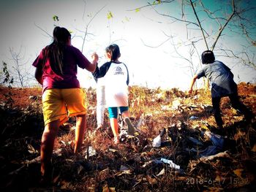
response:
<path fill-rule="evenodd" d="M 56 74 L 63 74 L 64 48 L 70 37 L 67 28 L 56 26 L 53 29 L 53 42 L 45 48 L 45 61 L 50 59 L 50 67 Z"/>

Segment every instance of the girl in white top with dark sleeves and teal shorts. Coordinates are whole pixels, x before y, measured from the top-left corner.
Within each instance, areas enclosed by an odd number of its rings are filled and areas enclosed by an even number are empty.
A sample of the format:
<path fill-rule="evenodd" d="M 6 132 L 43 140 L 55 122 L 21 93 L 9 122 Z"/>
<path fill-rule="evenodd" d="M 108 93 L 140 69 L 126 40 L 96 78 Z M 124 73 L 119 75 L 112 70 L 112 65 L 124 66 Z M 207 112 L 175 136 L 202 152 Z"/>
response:
<path fill-rule="evenodd" d="M 119 142 L 117 121 L 118 110 L 121 112 L 121 115 L 124 116 L 124 121 L 127 123 L 128 134 L 132 135 L 135 133 L 135 128 L 129 120 L 129 72 L 127 66 L 118 61 L 120 56 L 121 53 L 118 45 L 109 45 L 106 48 L 106 57 L 109 62 L 103 64 L 101 67 L 97 66 L 93 73 L 94 78 L 104 77 L 105 99 L 115 144 Z"/>

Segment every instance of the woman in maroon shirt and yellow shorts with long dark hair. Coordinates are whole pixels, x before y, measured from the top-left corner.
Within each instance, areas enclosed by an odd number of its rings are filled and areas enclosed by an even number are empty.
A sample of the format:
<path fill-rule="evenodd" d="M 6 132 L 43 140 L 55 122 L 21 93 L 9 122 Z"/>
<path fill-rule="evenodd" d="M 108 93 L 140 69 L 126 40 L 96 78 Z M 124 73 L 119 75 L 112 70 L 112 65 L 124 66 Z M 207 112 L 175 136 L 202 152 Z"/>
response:
<path fill-rule="evenodd" d="M 92 55 L 92 63 L 71 45 L 71 34 L 57 26 L 53 30 L 53 43 L 46 46 L 33 63 L 35 77 L 43 87 L 42 107 L 45 130 L 41 142 L 41 174 L 50 179 L 51 155 L 59 126 L 68 116 L 76 116 L 75 149 L 78 153 L 86 130 L 85 96 L 77 79 L 78 66 L 94 72 L 98 55 Z"/>

